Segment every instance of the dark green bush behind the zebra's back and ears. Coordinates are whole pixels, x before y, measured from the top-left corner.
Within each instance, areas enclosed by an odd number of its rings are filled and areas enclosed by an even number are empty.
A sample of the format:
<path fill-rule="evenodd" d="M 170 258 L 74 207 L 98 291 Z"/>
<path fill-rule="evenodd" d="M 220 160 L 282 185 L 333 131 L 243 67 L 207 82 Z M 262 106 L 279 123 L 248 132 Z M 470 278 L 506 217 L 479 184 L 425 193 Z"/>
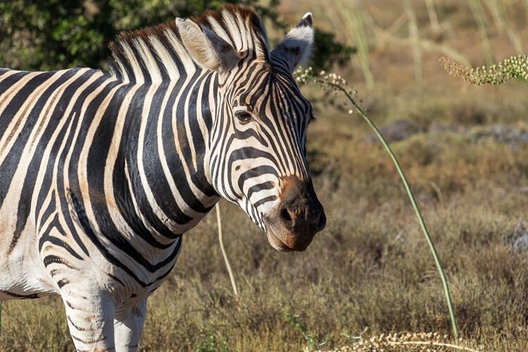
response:
<path fill-rule="evenodd" d="M 119 32 L 199 15 L 225 3 L 255 8 L 272 29 L 286 30 L 279 0 L 13 0 L 0 2 L 0 65 L 21 70 L 106 68 L 108 43 Z M 317 30 L 314 65 L 344 63 L 353 49 Z"/>

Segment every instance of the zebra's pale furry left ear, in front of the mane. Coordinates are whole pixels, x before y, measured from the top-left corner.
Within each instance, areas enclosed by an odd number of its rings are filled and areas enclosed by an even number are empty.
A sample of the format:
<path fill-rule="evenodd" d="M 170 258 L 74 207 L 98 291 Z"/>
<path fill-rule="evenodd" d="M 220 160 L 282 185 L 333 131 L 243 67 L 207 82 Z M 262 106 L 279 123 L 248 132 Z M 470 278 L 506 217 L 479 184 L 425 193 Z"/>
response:
<path fill-rule="evenodd" d="M 191 20 L 176 19 L 180 37 L 192 58 L 206 70 L 227 72 L 241 60 L 240 54 L 217 34 Z"/>

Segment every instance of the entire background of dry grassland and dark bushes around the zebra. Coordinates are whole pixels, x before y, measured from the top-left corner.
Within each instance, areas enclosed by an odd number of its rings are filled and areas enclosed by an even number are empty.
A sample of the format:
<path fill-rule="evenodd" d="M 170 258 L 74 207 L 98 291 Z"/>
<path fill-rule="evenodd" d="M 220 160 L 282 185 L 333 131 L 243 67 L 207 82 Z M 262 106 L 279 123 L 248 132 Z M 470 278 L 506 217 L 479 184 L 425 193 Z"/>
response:
<path fill-rule="evenodd" d="M 66 5 L 67 4 L 67 5 Z M 451 284 L 463 341 L 528 351 L 528 84 L 473 87 L 439 58 L 472 66 L 526 54 L 527 0 L 245 1 L 272 42 L 311 11 L 314 63 L 346 77 L 389 139 Z M 104 68 L 120 30 L 220 1 L 1 1 L 0 66 Z M 149 300 L 142 351 L 301 351 L 394 332 L 450 334 L 441 282 L 390 159 L 339 96 L 303 87 L 314 185 L 327 228 L 278 253 L 222 202 L 234 297 L 214 213 L 184 237 Z M 523 225 L 524 222 L 524 225 Z M 0 351 L 71 351 L 60 298 L 4 303 Z M 404 350 L 406 351 L 406 350 Z"/>

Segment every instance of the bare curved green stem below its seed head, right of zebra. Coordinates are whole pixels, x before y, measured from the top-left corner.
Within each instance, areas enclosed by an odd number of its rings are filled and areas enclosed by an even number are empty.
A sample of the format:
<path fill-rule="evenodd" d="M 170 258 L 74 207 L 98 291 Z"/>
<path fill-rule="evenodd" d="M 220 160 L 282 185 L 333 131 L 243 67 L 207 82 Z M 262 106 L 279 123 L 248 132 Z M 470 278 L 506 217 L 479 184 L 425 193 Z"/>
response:
<path fill-rule="evenodd" d="M 375 134 L 379 138 L 379 141 L 382 142 L 385 150 L 387 151 L 387 153 L 389 153 L 389 156 L 391 156 L 391 159 L 392 159 L 394 165 L 396 166 L 396 170 L 398 170 L 398 174 L 401 177 L 403 185 L 406 188 L 407 194 L 408 194 L 409 199 L 410 199 L 410 203 L 413 204 L 413 208 L 415 210 L 416 217 L 418 219 L 418 222 L 420 222 L 420 227 L 421 227 L 422 232 L 423 232 L 423 234 L 425 236 L 425 239 L 427 240 L 427 244 L 429 244 L 429 249 L 431 249 L 431 253 L 432 253 L 433 258 L 434 258 L 434 263 L 436 263 L 436 268 L 438 269 L 438 272 L 440 274 L 440 278 L 442 280 L 442 285 L 444 286 L 444 294 L 446 295 L 446 301 L 447 301 L 447 306 L 448 306 L 448 309 L 449 309 L 449 315 L 451 317 L 451 325 L 453 325 L 453 336 L 455 337 L 455 339 L 458 339 L 458 326 L 457 326 L 457 323 L 456 323 L 455 312 L 453 310 L 453 303 L 451 302 L 451 294 L 449 293 L 449 286 L 448 286 L 448 282 L 447 282 L 447 279 L 446 279 L 446 274 L 444 273 L 444 269 L 442 268 L 442 265 L 440 263 L 440 259 L 438 257 L 438 253 L 436 253 L 436 248 L 434 247 L 434 243 L 433 243 L 433 240 L 431 238 L 431 235 L 429 234 L 429 231 L 427 230 L 427 227 L 425 226 L 424 219 L 422 218 L 422 213 L 420 213 L 420 208 L 418 208 L 418 206 L 417 206 L 417 203 L 416 203 L 416 200 L 415 200 L 415 196 L 413 195 L 413 191 L 411 191 L 411 189 L 410 189 L 409 183 L 407 182 L 406 175 L 403 173 L 403 170 L 401 169 L 400 163 L 398 162 L 398 159 L 396 158 L 396 155 L 394 155 L 394 152 L 392 151 L 391 147 L 389 146 L 389 144 L 387 144 L 387 142 L 385 141 L 383 135 L 381 134 L 381 132 L 379 132 L 379 130 L 376 127 L 376 125 L 374 124 L 374 122 L 372 122 L 372 120 L 370 120 L 370 118 L 363 112 L 363 110 L 360 108 L 358 103 L 356 103 L 356 101 L 352 98 L 352 96 L 350 94 L 348 94 L 346 89 L 341 87 L 339 84 L 326 82 L 324 80 L 318 80 L 318 82 L 320 82 L 322 84 L 328 84 L 331 87 L 339 89 L 341 92 L 343 92 L 346 95 L 346 98 L 356 108 L 356 111 L 358 111 L 358 113 L 361 115 L 361 117 L 363 119 L 365 119 L 365 121 L 367 121 L 368 125 L 370 125 L 372 130 L 374 130 Z"/>

